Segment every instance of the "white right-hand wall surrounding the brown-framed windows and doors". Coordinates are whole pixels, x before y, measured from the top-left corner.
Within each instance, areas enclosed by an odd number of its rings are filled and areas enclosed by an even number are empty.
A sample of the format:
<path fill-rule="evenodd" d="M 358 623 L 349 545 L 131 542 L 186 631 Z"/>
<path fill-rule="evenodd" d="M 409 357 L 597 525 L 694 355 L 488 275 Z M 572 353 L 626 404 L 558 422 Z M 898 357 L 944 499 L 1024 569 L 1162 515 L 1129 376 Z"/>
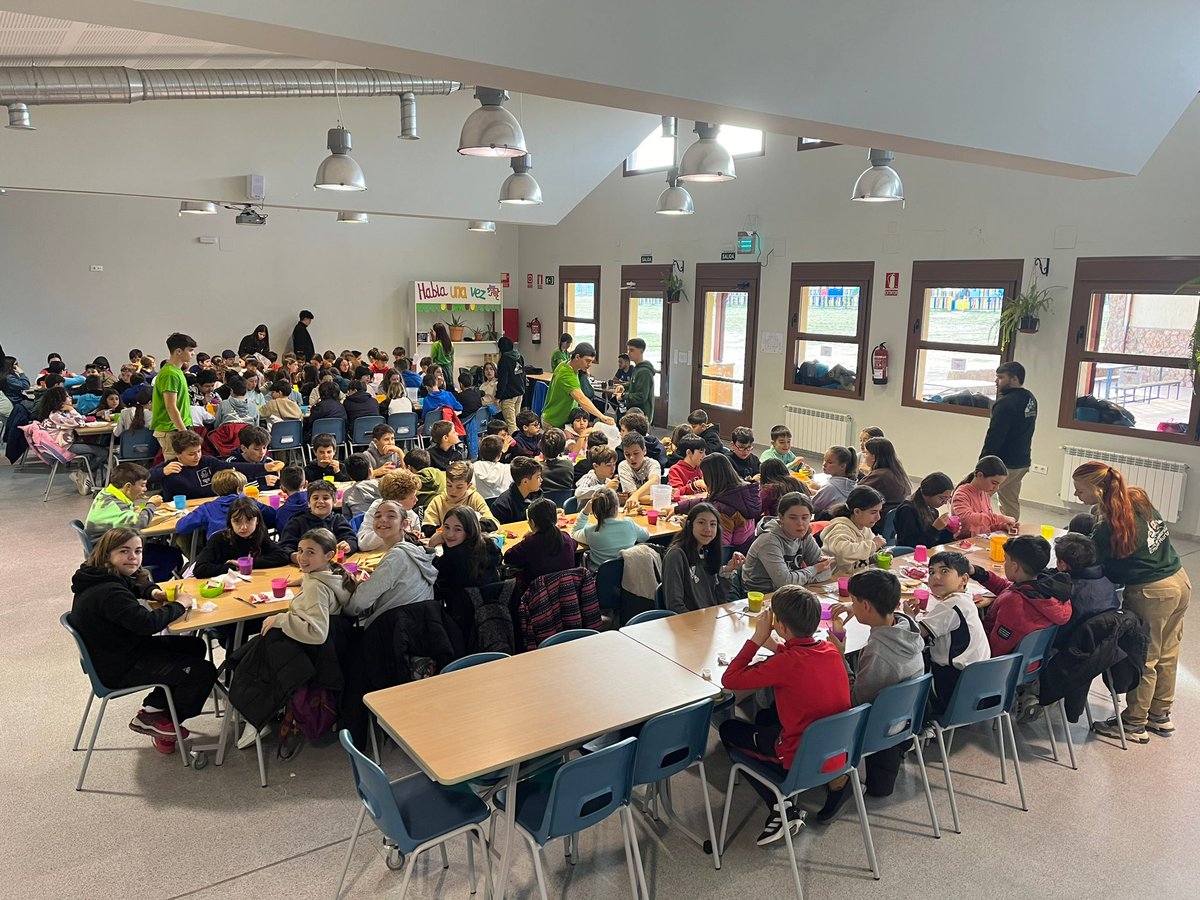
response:
<path fill-rule="evenodd" d="M 1194 102 L 1136 178 L 1080 182 L 965 163 L 899 157 L 907 208 L 850 200 L 866 151 L 832 148 L 797 152 L 794 138 L 772 136 L 766 157 L 738 162 L 738 179 L 700 185 L 692 191 L 697 212 L 686 218 L 656 216 L 660 175 L 623 178 L 619 168 L 558 227 L 522 227 L 520 304 L 522 322 L 534 316 L 551 335 L 534 360 L 548 360 L 557 328 L 557 290 L 527 290 L 527 272 L 557 274 L 559 265 L 600 264 L 601 332 L 605 360 L 613 364 L 619 329 L 620 266 L 650 252 L 655 263 L 686 260 L 692 283 L 696 263 L 716 262 L 730 248 L 746 216 L 758 217 L 764 250 L 774 248 L 761 283 L 760 331 L 786 331 L 790 265 L 793 262 L 875 260 L 870 344 L 887 341 L 895 374 L 887 386 L 866 386 L 866 400 L 830 401 L 784 390 L 782 355 L 757 356 L 754 424 L 760 440 L 781 421 L 784 403 L 851 413 L 857 425 L 878 425 L 892 437 L 911 473 L 943 469 L 958 475 L 974 461 L 986 420 L 900 406 L 908 287 L 916 259 L 1024 258 L 1028 283 L 1034 257 L 1050 257 L 1043 287 L 1056 290 L 1055 314 L 1042 332 L 1021 336 L 1016 359 L 1028 370 L 1027 386 L 1042 404 L 1033 443 L 1034 461 L 1048 475 L 1028 475 L 1022 496 L 1060 505 L 1063 444 L 1118 450 L 1188 462 L 1193 467 L 1184 511 L 1175 529 L 1200 533 L 1200 452 L 1194 446 L 1136 437 L 1060 430 L 1058 392 L 1067 342 L 1067 318 L 1075 259 L 1086 256 L 1165 256 L 1200 253 L 1200 101 Z M 901 274 L 900 296 L 883 296 L 887 271 Z M 694 293 L 694 292 L 689 292 Z M 673 313 L 673 350 L 690 349 L 694 302 Z M 523 332 L 528 334 L 528 332 Z M 757 347 L 757 340 L 754 341 Z M 529 347 L 526 347 L 529 350 Z M 672 366 L 670 420 L 678 422 L 691 404 L 688 366 Z"/>

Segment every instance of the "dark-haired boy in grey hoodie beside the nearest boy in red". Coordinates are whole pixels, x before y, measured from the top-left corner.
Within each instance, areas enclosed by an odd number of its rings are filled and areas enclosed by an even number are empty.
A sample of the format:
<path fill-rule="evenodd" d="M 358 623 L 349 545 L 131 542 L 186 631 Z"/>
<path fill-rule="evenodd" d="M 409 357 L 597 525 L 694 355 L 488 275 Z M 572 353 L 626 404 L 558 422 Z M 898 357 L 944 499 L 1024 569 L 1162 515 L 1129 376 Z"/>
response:
<path fill-rule="evenodd" d="M 834 604 L 834 619 L 841 620 L 836 630 L 845 631 L 845 619 L 853 616 L 871 629 L 866 646 L 859 650 L 850 676 L 851 703 L 870 703 L 880 691 L 924 673 L 925 640 L 917 623 L 900 607 L 900 581 L 884 569 L 866 569 L 850 580 L 848 606 Z M 830 629 L 834 631 L 835 629 Z M 842 653 L 845 644 L 830 634 L 829 640 Z M 889 797 L 895 790 L 900 772 L 902 744 L 866 757 L 866 793 Z M 847 776 L 830 781 L 824 806 L 817 812 L 818 822 L 828 822 L 850 798 Z"/>

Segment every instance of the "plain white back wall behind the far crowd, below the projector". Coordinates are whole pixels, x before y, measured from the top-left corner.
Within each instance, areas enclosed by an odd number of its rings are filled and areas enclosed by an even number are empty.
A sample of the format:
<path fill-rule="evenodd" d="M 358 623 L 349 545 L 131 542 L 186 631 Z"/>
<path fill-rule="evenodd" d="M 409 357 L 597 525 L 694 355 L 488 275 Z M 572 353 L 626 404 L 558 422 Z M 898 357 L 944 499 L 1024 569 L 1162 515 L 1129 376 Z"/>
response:
<path fill-rule="evenodd" d="M 130 197 L 10 191 L 0 196 L 0 343 L 26 371 L 50 350 L 72 370 L 131 347 L 161 359 L 185 331 L 220 353 L 263 322 L 283 350 L 296 312 L 316 313 L 318 350 L 391 350 L 403 342 L 416 278 L 494 281 L 516 271 L 517 229 L 474 234 L 463 222 L 271 210 L 263 227 L 234 214 L 178 216 L 178 204 Z M 217 245 L 198 242 L 212 235 Z M 90 271 L 102 265 L 102 272 Z M 515 305 L 515 295 L 509 295 Z"/>

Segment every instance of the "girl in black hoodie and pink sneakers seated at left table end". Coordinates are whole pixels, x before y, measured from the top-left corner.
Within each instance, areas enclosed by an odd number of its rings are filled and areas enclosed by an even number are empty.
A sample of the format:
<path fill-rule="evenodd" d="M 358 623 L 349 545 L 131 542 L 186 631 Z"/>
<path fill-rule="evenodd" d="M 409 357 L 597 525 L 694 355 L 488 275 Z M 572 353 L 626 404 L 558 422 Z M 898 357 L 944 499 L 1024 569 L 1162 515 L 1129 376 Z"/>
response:
<path fill-rule="evenodd" d="M 212 664 L 204 659 L 204 641 L 184 635 L 157 636 L 193 601 L 179 594 L 167 602 L 167 594 L 142 568 L 142 538 L 137 532 L 106 532 L 72 577 L 71 590 L 74 602 L 68 620 L 83 638 L 101 682 L 109 688 L 166 684 L 172 689 L 180 722 L 199 714 L 217 679 Z M 151 610 L 149 601 L 163 605 Z M 166 691 L 155 688 L 130 721 L 132 731 L 154 738 L 161 754 L 175 752 L 175 727 L 168 709 Z M 179 731 L 180 737 L 187 737 L 186 728 L 180 726 Z"/>

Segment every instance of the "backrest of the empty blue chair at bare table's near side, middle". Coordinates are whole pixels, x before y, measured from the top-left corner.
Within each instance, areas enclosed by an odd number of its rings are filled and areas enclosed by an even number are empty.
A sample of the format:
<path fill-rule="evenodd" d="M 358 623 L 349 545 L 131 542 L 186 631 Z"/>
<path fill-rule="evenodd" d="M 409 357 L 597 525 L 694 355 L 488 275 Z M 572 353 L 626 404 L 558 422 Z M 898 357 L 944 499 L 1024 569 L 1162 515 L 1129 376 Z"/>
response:
<path fill-rule="evenodd" d="M 634 791 L 636 754 L 637 738 L 625 738 L 559 767 L 534 838 L 545 844 L 582 832 L 628 804 Z"/>

